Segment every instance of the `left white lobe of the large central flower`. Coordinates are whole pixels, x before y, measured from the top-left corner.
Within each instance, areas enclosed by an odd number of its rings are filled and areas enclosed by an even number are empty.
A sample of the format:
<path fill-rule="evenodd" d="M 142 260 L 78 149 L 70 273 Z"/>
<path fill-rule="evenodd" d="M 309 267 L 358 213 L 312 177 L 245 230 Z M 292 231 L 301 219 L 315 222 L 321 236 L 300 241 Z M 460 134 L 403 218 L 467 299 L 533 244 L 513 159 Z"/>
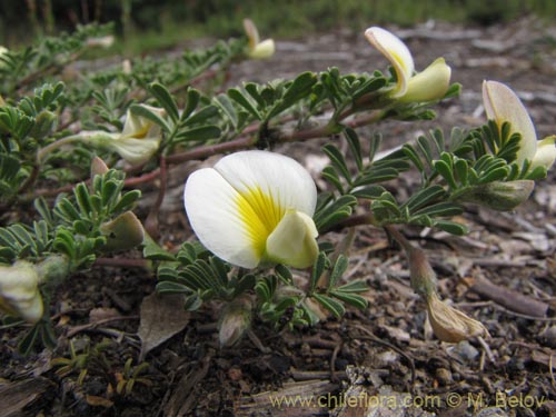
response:
<path fill-rule="evenodd" d="M 255 268 L 264 248 L 257 251 L 237 201 L 239 193 L 212 168 L 191 173 L 183 200 L 189 222 L 202 245 L 230 264 Z M 266 240 L 266 237 L 265 237 Z"/>

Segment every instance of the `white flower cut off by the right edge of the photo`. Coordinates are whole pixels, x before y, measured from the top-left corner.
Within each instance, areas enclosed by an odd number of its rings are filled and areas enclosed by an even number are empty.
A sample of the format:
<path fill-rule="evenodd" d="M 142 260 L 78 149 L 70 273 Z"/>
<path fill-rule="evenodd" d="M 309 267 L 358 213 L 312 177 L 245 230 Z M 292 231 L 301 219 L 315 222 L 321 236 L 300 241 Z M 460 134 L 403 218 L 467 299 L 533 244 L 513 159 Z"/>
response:
<path fill-rule="evenodd" d="M 537 141 L 535 126 L 527 109 L 509 87 L 497 81 L 484 81 L 483 103 L 488 119 L 494 120 L 498 128 L 507 121 L 512 125 L 512 133 L 519 132 L 522 135 L 516 157 L 516 162 L 519 166 L 526 159 L 532 162 L 532 169 L 535 167 L 549 169 L 554 165 L 556 136 Z"/>

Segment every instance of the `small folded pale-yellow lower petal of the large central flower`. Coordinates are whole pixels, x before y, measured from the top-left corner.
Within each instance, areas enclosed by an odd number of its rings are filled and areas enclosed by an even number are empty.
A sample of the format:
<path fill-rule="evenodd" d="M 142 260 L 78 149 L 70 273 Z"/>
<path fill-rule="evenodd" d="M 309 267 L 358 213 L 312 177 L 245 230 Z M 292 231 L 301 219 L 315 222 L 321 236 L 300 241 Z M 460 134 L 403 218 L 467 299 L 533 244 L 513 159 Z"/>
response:
<path fill-rule="evenodd" d="M 290 210 L 268 237 L 266 257 L 272 262 L 294 268 L 310 267 L 318 256 L 317 236 L 312 218 Z"/>

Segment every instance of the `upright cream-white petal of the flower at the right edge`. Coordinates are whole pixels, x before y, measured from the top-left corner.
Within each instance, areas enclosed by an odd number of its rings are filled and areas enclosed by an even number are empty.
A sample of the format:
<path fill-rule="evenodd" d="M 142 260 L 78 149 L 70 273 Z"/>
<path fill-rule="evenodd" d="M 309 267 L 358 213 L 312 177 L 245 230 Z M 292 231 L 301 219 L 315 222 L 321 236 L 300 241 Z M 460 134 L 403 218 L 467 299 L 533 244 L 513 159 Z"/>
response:
<path fill-rule="evenodd" d="M 537 135 L 527 109 L 517 95 L 507 86 L 497 81 L 483 82 L 483 103 L 488 119 L 500 127 L 505 121 L 512 125 L 512 132 L 522 135 L 516 162 L 522 166 L 533 160 L 537 150 Z"/>

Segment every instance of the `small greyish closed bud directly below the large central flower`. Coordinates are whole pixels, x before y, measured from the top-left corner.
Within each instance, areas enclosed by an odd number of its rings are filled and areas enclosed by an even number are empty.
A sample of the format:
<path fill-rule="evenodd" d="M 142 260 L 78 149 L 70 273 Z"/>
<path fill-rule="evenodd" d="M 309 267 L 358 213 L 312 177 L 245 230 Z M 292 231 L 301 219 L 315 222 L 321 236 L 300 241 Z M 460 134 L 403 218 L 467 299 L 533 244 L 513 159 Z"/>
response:
<path fill-rule="evenodd" d="M 220 347 L 236 344 L 251 326 L 252 302 L 247 297 L 230 301 L 222 311 L 218 340 Z"/>

